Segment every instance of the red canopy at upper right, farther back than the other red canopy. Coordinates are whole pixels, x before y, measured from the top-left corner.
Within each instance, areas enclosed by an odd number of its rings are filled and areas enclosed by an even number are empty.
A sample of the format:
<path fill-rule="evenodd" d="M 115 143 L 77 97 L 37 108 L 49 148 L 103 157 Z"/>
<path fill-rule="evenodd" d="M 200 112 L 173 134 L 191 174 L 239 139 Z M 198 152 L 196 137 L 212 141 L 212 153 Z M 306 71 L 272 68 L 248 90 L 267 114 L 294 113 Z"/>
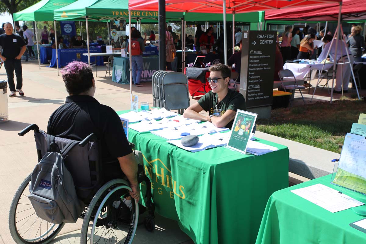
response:
<path fill-rule="evenodd" d="M 323 4 L 317 7 L 299 7 L 286 10 L 267 10 L 265 20 L 296 20 L 296 21 L 337 21 L 339 6 Z M 366 4 L 359 0 L 343 0 L 341 10 L 342 20 L 366 19 Z"/>

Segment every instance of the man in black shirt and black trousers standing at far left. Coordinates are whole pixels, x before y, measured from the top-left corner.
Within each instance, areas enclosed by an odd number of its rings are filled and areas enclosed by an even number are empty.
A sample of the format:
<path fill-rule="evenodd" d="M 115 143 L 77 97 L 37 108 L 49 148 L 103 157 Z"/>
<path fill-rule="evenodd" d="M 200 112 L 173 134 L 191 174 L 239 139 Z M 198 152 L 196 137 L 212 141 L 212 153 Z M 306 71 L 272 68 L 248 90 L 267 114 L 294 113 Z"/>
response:
<path fill-rule="evenodd" d="M 26 46 L 19 35 L 13 34 L 13 26 L 11 23 L 5 23 L 4 29 L 5 34 L 0 35 L 0 46 L 3 48 L 0 59 L 4 61 L 4 67 L 8 76 L 9 97 L 15 97 L 16 91 L 18 91 L 19 95 L 24 96 L 22 91 L 22 62 L 20 59 L 26 50 Z M 16 75 L 16 89 L 14 84 L 14 71 Z"/>

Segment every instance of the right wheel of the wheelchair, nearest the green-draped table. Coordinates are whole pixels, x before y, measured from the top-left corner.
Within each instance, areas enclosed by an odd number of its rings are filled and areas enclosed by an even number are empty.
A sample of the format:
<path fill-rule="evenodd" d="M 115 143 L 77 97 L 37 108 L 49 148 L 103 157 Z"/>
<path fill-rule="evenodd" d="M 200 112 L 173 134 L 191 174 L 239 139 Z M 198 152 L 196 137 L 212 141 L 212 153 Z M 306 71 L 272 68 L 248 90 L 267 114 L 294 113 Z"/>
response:
<path fill-rule="evenodd" d="M 137 229 L 138 204 L 132 199 L 131 215 L 120 218 L 116 201 L 129 196 L 129 183 L 114 179 L 103 185 L 86 210 L 81 229 L 81 244 L 132 243 Z M 120 204 L 124 204 L 121 200 Z M 121 205 L 120 205 L 121 206 Z"/>

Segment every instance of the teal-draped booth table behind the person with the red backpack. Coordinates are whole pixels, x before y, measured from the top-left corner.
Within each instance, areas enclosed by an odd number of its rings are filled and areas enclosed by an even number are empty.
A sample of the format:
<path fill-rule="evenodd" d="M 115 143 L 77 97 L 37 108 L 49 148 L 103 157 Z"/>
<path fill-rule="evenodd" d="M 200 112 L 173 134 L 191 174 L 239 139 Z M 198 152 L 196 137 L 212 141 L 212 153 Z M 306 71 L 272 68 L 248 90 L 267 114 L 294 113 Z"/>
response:
<path fill-rule="evenodd" d="M 143 71 L 141 82 L 151 82 L 154 72 L 159 70 L 159 58 L 157 56 L 142 57 Z M 129 57 L 114 57 L 112 81 L 119 84 L 130 84 L 130 60 Z"/>

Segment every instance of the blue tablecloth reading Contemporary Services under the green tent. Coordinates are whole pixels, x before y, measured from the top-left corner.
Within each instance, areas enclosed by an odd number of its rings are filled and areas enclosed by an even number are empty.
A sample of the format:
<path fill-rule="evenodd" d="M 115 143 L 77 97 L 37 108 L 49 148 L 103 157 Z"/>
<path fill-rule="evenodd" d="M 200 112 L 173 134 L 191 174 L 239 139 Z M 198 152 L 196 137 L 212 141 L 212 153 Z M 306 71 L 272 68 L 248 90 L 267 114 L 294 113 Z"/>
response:
<path fill-rule="evenodd" d="M 57 49 L 59 56 L 59 68 L 66 66 L 68 63 L 78 60 L 85 63 L 88 62 L 88 56 L 83 56 L 83 53 L 87 53 L 86 48 L 72 48 L 72 49 Z M 90 53 L 100 53 L 100 48 L 90 48 Z M 95 62 L 95 57 L 90 57 L 90 63 Z M 97 57 L 97 65 L 104 65 L 103 57 Z M 49 67 L 56 67 L 56 49 L 52 49 L 52 59 Z"/>

